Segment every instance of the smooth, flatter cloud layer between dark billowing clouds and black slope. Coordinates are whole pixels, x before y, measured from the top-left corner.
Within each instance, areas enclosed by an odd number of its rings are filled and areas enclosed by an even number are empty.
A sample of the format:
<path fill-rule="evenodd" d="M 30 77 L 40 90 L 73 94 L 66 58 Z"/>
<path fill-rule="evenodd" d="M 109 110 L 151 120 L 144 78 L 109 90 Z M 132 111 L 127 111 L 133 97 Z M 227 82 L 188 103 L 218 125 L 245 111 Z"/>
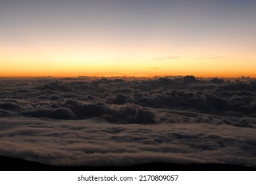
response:
<path fill-rule="evenodd" d="M 255 166 L 255 131 L 211 124 L 109 124 L 101 119 L 2 118 L 0 154 L 53 165 L 144 162 Z M 193 131 L 192 131 L 193 129 Z"/>

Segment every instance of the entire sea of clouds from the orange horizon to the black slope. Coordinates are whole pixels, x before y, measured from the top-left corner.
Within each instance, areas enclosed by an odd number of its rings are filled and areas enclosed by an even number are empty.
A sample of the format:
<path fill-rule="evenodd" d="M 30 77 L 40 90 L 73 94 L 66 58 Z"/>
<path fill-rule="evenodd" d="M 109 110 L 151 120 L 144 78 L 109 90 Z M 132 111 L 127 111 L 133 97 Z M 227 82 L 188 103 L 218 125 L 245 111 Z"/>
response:
<path fill-rule="evenodd" d="M 1 80 L 0 154 L 64 165 L 255 166 L 256 81 Z"/>

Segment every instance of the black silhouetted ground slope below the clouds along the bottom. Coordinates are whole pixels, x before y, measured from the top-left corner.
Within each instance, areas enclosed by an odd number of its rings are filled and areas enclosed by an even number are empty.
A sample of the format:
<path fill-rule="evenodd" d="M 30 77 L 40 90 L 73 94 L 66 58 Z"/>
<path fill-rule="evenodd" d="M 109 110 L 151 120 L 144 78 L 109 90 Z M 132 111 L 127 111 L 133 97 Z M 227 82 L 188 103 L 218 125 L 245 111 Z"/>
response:
<path fill-rule="evenodd" d="M 172 164 L 164 162 L 155 162 L 147 164 L 137 164 L 134 166 L 50 166 L 47 164 L 41 164 L 39 162 L 33 162 L 28 160 L 22 160 L 19 158 L 11 158 L 8 156 L 0 156 L 0 170 L 2 171 L 133 171 L 133 170 L 147 170 L 147 171 L 240 171 L 240 170 L 256 170 L 256 168 L 250 168 L 245 166 L 236 166 L 230 164 Z"/>

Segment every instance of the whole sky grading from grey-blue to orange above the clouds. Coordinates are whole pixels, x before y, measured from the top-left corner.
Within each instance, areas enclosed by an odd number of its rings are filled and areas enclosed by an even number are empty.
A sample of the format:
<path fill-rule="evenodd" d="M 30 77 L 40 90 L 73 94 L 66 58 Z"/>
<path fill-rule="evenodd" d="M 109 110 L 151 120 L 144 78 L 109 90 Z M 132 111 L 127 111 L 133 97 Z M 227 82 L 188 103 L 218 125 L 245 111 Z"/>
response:
<path fill-rule="evenodd" d="M 256 77 L 256 1 L 0 2 L 0 76 Z"/>

